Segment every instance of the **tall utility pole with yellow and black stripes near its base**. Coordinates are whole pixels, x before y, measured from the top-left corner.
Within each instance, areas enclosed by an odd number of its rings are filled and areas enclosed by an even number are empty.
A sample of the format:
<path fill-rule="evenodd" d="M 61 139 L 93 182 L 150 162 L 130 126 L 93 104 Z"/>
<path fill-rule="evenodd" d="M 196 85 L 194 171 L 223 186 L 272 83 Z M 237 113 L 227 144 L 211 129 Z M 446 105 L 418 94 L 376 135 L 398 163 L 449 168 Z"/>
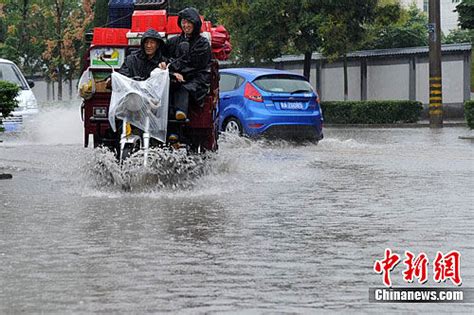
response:
<path fill-rule="evenodd" d="M 441 17 L 440 0 L 429 0 L 430 42 L 430 127 L 443 127 L 443 93 L 441 81 Z"/>

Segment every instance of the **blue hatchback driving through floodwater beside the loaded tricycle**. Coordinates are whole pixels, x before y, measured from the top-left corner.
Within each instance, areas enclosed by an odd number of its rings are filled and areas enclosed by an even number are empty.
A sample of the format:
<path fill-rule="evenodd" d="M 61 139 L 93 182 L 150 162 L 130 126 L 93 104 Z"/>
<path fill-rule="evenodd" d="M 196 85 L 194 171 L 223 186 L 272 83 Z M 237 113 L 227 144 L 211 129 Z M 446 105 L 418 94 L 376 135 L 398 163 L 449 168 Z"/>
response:
<path fill-rule="evenodd" d="M 238 135 L 323 138 L 319 97 L 305 77 L 276 69 L 220 70 L 220 130 Z"/>

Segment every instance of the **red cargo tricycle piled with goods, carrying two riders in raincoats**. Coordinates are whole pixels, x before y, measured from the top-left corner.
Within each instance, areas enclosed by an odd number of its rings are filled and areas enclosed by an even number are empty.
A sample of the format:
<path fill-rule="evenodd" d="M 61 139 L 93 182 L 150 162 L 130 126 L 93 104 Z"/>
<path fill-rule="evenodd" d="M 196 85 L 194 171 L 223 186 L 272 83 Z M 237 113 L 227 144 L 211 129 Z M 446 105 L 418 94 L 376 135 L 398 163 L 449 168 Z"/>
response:
<path fill-rule="evenodd" d="M 161 16 L 159 11 L 154 14 Z M 86 147 L 92 135 L 94 147 L 106 146 L 119 159 L 145 149 L 146 143 L 185 148 L 190 153 L 217 150 L 219 72 L 218 62 L 213 58 L 224 60 L 229 51 L 224 50 L 223 42 L 218 42 L 217 48 L 212 46 L 211 54 L 210 22 L 201 28 L 196 10 L 185 9 L 176 19 L 172 15 L 167 17 L 168 21 L 179 20 L 181 34 L 175 33 L 176 28 L 169 23 L 165 32 L 160 29 L 162 33 L 134 32 L 133 27 L 94 29 L 92 45 L 85 55 L 89 67 L 79 84 L 84 99 L 81 111 Z M 201 36 L 199 31 L 210 38 Z M 167 37 L 166 44 L 160 34 Z M 216 35 L 221 37 L 220 33 Z M 108 80 L 106 84 L 110 71 L 112 78 L 119 79 Z M 173 85 L 171 89 L 164 88 L 167 84 Z M 145 119 L 147 115 L 150 116 Z M 134 123 L 137 119 L 140 123 Z M 156 125 L 158 132 L 154 130 Z"/>

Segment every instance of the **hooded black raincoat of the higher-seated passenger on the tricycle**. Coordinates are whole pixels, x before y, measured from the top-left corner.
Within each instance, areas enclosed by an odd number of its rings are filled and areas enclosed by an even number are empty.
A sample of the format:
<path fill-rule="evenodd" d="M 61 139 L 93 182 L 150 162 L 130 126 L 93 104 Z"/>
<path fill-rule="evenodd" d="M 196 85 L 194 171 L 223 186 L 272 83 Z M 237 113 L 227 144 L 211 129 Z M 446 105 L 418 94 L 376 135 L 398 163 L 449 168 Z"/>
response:
<path fill-rule="evenodd" d="M 183 75 L 185 82 L 182 86 L 193 99 L 201 103 L 209 91 L 211 81 L 211 46 L 209 41 L 200 35 L 202 22 L 196 9 L 186 8 L 180 11 L 178 16 L 180 28 L 181 20 L 186 19 L 194 24 L 194 30 L 190 38 L 181 32 L 181 35 L 169 39 L 166 43 L 165 53 L 170 62 L 169 69 L 170 72 Z"/>

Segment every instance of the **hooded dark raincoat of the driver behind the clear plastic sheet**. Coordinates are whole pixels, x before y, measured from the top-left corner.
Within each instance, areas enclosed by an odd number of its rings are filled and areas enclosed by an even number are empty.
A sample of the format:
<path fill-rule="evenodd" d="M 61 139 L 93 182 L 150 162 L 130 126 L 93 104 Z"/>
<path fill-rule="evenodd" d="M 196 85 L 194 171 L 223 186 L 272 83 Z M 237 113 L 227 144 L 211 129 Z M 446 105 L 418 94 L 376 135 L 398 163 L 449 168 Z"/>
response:
<path fill-rule="evenodd" d="M 159 42 L 158 48 L 156 50 L 155 56 L 152 59 L 148 59 L 145 54 L 145 39 L 153 38 Z M 129 78 L 141 78 L 148 79 L 150 77 L 151 71 L 157 68 L 160 62 L 165 61 L 163 57 L 163 48 L 164 41 L 161 38 L 160 33 L 154 29 L 147 30 L 141 39 L 140 49 L 131 53 L 125 59 L 122 67 L 119 70 L 119 73 L 129 77 Z"/>

